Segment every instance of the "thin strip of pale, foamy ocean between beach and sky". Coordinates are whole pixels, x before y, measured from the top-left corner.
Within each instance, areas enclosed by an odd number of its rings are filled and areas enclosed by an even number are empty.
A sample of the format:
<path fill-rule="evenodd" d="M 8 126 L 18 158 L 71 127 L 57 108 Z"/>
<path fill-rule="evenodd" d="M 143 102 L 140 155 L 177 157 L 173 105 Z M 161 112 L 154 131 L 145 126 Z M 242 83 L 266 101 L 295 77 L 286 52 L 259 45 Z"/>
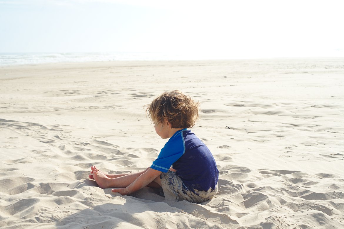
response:
<path fill-rule="evenodd" d="M 328 53 L 327 53 L 328 54 Z M 343 57 L 344 50 L 337 50 L 332 55 L 322 57 Z M 229 60 L 229 59 L 261 59 L 291 58 L 279 55 L 227 56 L 228 53 L 160 53 L 160 52 L 26 52 L 0 53 L 0 66 L 19 64 L 41 64 L 58 62 L 92 62 L 92 61 L 173 61 L 173 60 Z M 307 55 L 290 55 L 293 58 L 305 58 Z M 310 55 L 308 57 L 321 57 Z"/>

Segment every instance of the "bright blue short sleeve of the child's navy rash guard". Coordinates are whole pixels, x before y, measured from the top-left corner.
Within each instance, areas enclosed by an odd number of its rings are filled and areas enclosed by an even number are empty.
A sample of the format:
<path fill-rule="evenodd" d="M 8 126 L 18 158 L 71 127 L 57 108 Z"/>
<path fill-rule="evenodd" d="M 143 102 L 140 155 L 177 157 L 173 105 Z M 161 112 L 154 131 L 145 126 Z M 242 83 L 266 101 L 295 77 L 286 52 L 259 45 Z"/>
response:
<path fill-rule="evenodd" d="M 165 146 L 161 149 L 158 158 L 153 161 L 152 169 L 167 172 L 171 165 L 178 160 L 185 152 L 183 132 L 173 135 Z"/>

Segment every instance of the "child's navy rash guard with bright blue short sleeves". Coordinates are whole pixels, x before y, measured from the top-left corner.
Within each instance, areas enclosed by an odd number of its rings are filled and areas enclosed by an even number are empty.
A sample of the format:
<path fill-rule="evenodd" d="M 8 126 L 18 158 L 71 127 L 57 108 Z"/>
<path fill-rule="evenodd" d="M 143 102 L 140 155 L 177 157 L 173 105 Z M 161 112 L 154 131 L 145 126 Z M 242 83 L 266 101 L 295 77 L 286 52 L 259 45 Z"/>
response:
<path fill-rule="evenodd" d="M 216 188 L 218 170 L 215 159 L 208 147 L 190 130 L 175 132 L 151 168 L 167 172 L 171 165 L 187 190 L 197 193 L 194 190 Z"/>

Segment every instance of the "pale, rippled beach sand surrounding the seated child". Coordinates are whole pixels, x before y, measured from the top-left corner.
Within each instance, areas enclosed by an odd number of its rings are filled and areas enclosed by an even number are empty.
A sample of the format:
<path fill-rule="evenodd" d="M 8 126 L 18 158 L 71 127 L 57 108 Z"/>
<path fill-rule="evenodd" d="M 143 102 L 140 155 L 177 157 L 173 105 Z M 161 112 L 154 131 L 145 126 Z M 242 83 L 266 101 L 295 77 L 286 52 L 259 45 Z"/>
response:
<path fill-rule="evenodd" d="M 91 165 L 151 165 L 143 106 L 172 89 L 201 103 L 218 195 L 97 187 Z M 343 58 L 20 65 L 0 92 L 1 228 L 344 228 Z"/>

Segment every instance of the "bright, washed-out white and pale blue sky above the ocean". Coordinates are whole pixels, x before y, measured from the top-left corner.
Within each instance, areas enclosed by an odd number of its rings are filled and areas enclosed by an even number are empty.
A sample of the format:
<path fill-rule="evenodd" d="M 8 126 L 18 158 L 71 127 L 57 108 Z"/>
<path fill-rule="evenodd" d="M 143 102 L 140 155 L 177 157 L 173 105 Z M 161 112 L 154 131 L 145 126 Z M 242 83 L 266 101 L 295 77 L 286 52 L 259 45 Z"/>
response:
<path fill-rule="evenodd" d="M 343 0 L 0 0 L 0 52 L 344 57 Z"/>

